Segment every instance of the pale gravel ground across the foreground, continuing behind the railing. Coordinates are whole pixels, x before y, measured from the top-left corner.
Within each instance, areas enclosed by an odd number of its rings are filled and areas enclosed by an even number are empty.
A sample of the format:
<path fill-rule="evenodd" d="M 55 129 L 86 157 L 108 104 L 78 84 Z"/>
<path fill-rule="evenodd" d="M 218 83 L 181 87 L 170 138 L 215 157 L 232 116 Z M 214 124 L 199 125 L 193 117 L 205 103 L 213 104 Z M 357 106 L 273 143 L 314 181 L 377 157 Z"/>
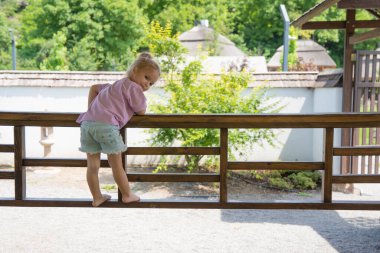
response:
<path fill-rule="evenodd" d="M 65 185 L 59 170 L 29 171 L 27 178 L 29 195 L 41 197 L 49 189 L 48 195 L 89 196 L 85 181 Z M 8 183 L 0 184 L 0 195 L 9 193 Z M 151 190 L 143 197 L 172 194 L 167 187 Z M 202 194 L 212 191 L 200 188 Z M 379 200 L 336 192 L 333 198 Z M 380 211 L 0 207 L 0 217 L 1 253 L 380 252 Z"/>

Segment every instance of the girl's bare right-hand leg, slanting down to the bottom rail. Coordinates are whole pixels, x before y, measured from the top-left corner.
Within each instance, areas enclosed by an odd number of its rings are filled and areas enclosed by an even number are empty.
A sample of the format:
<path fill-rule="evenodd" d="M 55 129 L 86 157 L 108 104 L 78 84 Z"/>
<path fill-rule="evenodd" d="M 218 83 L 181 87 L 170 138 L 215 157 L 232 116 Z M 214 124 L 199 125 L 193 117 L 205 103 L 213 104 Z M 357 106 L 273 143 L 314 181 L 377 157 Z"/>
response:
<path fill-rule="evenodd" d="M 118 185 L 121 195 L 122 201 L 124 203 L 136 202 L 139 201 L 140 198 L 131 192 L 131 188 L 129 187 L 129 182 L 127 175 L 125 174 L 123 163 L 121 161 L 121 153 L 120 154 L 109 154 L 108 162 L 112 167 L 113 177 L 115 179 L 116 184 Z"/>

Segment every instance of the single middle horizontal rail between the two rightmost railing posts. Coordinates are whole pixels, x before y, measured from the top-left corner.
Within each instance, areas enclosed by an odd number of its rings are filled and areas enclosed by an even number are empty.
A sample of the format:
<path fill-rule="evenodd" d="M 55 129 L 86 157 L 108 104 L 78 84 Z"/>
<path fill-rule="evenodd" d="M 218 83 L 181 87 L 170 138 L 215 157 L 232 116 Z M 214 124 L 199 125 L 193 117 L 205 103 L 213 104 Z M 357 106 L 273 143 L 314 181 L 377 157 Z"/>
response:
<path fill-rule="evenodd" d="M 322 162 L 229 162 L 229 170 L 324 170 Z"/>

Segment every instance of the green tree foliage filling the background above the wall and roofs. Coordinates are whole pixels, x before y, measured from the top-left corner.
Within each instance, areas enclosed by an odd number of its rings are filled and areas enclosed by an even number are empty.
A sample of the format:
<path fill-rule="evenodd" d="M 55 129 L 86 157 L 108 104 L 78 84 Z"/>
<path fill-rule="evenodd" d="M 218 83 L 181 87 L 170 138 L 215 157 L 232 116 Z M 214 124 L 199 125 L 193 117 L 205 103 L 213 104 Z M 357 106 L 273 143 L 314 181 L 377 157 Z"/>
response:
<path fill-rule="evenodd" d="M 283 3 L 282 0 L 0 0 L 0 69 L 11 68 L 8 29 L 13 28 L 18 68 L 44 66 L 42 62 L 53 50 L 53 38 L 61 32 L 66 37 L 67 51 L 67 58 L 62 61 L 67 61 L 70 70 L 124 70 L 136 51 L 141 50 L 144 27 L 152 20 L 164 27 L 170 23 L 172 33 L 177 36 L 200 20 L 208 19 L 216 34 L 230 38 L 248 54 L 269 59 L 283 43 L 279 11 Z M 286 1 L 290 20 L 318 3 L 320 0 Z M 313 20 L 345 18 L 343 10 L 332 7 Z M 358 10 L 356 18 L 375 19 L 365 10 Z M 338 67 L 342 66 L 343 30 L 300 31 L 298 35 L 312 37 L 328 50 Z M 377 40 L 373 39 L 359 43 L 355 49 L 376 47 Z"/>

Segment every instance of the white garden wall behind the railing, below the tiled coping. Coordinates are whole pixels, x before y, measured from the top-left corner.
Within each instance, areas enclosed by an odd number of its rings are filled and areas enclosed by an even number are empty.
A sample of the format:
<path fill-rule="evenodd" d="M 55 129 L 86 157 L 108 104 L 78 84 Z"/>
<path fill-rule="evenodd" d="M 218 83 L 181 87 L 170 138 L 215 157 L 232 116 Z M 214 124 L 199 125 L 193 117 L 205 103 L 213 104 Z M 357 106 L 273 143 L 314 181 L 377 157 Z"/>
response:
<path fill-rule="evenodd" d="M 83 112 L 87 107 L 88 88 L 50 88 L 50 87 L 0 87 L 1 111 L 24 112 Z M 147 93 L 148 101 L 155 96 L 164 96 L 163 89 L 155 87 Z M 281 102 L 281 113 L 325 113 L 339 112 L 341 88 L 271 88 L 269 95 Z M 148 106 L 149 108 L 149 106 Z M 321 161 L 321 129 L 277 129 L 277 147 L 255 147 L 248 159 L 254 161 Z M 335 133 L 336 144 L 340 134 Z M 148 135 L 143 129 L 128 130 L 129 146 L 148 146 Z M 43 146 L 39 143 L 39 127 L 26 129 L 26 155 L 43 157 Z M 79 128 L 54 127 L 55 144 L 50 157 L 84 158 L 79 152 Z M 0 127 L 0 143 L 13 143 L 13 129 Z M 128 163 L 148 164 L 157 162 L 158 157 L 128 157 Z M 0 154 L 0 164 L 13 164 L 13 156 Z M 335 166 L 334 166 L 335 167 Z M 338 168 L 338 167 L 337 167 Z"/>

